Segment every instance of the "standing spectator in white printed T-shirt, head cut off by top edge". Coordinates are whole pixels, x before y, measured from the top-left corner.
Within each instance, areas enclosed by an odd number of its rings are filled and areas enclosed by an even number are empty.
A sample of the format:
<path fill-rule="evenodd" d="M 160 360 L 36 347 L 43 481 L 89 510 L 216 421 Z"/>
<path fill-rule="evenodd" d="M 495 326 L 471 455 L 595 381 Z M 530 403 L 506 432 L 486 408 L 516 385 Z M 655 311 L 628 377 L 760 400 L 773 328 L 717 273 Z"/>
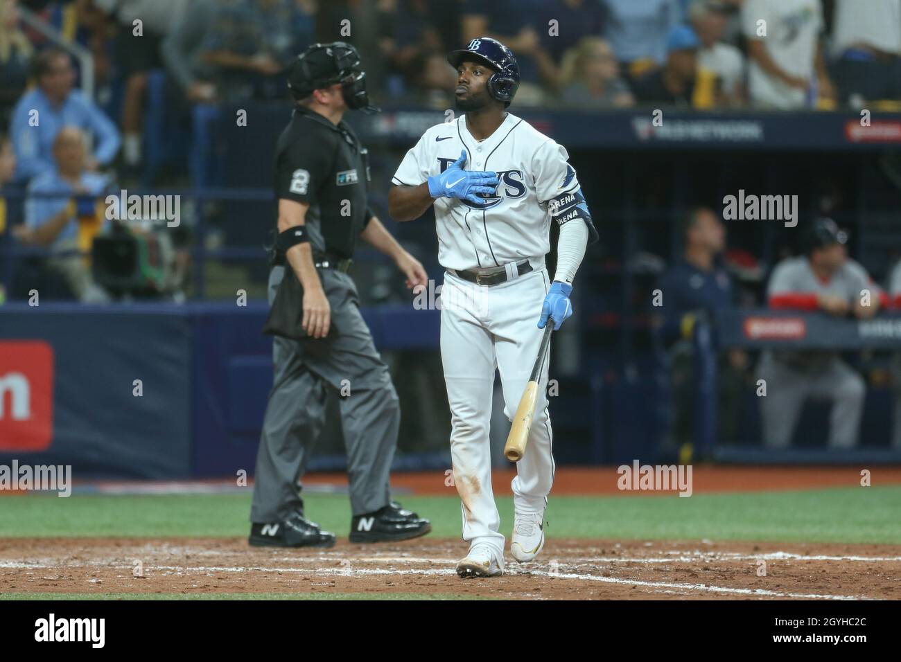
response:
<path fill-rule="evenodd" d="M 820 0 L 745 0 L 742 27 L 752 104 L 788 110 L 834 99 L 820 44 Z"/>

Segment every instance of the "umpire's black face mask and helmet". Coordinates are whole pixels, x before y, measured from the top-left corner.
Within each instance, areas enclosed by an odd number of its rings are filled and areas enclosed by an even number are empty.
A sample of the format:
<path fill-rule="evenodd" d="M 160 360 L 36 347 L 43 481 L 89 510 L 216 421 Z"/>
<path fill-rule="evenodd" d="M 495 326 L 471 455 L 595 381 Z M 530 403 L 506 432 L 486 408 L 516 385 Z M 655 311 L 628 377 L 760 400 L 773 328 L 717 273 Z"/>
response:
<path fill-rule="evenodd" d="M 366 72 L 360 68 L 359 52 L 346 41 L 314 43 L 298 55 L 287 70 L 287 86 L 296 99 L 341 83 L 341 94 L 352 110 L 376 112 L 369 105 Z"/>

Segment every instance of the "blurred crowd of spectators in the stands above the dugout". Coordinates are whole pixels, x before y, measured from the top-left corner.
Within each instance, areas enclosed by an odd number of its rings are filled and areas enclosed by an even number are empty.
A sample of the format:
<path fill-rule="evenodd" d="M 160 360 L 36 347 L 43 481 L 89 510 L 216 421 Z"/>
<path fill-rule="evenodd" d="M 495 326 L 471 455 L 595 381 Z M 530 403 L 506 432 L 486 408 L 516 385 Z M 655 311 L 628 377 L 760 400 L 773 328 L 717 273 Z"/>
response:
<path fill-rule="evenodd" d="M 287 62 L 346 33 L 383 104 L 450 107 L 446 54 L 479 35 L 514 50 L 522 106 L 790 110 L 901 99 L 897 0 L 863 10 L 855 0 L 2 0 L 0 126 L 21 120 L 16 107 L 32 108 L 32 84 L 46 93 L 77 76 L 61 55 L 48 67 L 41 51 L 53 45 L 20 20 L 20 6 L 93 56 L 95 98 L 86 104 L 117 124 L 125 166 L 141 162 L 151 70 L 166 71 L 167 98 L 186 108 L 284 98 Z M 30 178 L 15 126 L 17 178 Z"/>

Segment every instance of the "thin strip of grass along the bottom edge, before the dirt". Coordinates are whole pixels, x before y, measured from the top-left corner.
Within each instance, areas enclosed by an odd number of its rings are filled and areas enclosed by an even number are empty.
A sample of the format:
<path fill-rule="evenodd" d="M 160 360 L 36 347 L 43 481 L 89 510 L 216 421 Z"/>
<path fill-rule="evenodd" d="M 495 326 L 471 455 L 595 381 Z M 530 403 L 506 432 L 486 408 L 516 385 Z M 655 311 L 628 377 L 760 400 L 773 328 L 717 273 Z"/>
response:
<path fill-rule="evenodd" d="M 421 593 L 7 593 L 0 600 L 493 600 L 474 595 Z"/>

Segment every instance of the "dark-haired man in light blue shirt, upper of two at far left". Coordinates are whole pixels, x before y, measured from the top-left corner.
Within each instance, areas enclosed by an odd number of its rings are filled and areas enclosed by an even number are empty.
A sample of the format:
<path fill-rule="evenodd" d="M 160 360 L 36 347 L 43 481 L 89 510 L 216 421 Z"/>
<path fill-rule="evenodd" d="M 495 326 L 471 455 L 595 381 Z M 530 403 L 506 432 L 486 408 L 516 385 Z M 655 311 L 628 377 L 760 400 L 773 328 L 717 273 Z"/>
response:
<path fill-rule="evenodd" d="M 38 86 L 16 104 L 10 135 L 17 159 L 16 179 L 24 181 L 52 171 L 53 145 L 64 125 L 89 132 L 96 144 L 86 168 L 109 165 L 119 151 L 119 130 L 80 91 L 73 89 L 75 70 L 65 50 L 42 50 L 34 58 Z"/>

